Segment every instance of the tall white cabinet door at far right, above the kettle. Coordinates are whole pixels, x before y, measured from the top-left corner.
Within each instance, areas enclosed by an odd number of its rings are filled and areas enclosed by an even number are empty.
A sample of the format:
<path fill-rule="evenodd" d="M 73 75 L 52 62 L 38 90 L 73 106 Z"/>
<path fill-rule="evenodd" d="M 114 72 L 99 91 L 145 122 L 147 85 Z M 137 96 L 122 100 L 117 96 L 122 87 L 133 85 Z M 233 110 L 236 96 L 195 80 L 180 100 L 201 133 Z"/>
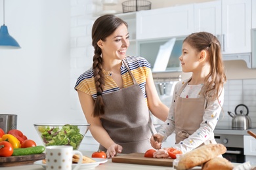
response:
<path fill-rule="evenodd" d="M 251 52 L 251 0 L 223 0 L 223 54 Z"/>

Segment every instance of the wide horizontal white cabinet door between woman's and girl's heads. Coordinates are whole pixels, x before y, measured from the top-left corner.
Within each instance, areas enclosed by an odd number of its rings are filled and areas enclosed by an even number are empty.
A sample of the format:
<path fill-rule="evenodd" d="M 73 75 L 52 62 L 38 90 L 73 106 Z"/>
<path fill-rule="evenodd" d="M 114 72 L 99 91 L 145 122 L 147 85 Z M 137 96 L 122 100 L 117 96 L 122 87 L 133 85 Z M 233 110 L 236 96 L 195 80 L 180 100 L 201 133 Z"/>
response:
<path fill-rule="evenodd" d="M 142 10 L 137 13 L 137 39 L 189 35 L 194 29 L 194 5 Z"/>

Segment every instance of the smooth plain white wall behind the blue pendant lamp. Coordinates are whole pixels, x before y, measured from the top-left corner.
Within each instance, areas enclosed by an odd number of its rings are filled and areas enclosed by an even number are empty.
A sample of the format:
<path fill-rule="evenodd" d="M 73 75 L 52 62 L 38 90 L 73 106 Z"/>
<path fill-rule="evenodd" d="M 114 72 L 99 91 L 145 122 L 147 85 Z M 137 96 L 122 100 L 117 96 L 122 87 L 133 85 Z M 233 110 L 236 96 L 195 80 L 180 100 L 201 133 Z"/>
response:
<path fill-rule="evenodd" d="M 35 123 L 85 122 L 71 109 L 70 6 L 70 0 L 5 0 L 5 25 L 21 48 L 0 49 L 0 114 L 17 114 L 18 129 L 38 144 Z"/>

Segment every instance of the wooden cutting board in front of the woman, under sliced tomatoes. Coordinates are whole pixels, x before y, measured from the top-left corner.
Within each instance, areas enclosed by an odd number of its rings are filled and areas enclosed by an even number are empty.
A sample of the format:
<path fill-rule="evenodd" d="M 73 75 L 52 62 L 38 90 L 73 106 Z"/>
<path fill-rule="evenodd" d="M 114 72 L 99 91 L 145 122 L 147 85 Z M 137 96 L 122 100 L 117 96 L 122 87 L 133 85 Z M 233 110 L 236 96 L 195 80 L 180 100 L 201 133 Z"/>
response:
<path fill-rule="evenodd" d="M 112 158 L 112 162 L 116 163 L 132 163 L 140 165 L 157 165 L 165 167 L 173 167 L 173 159 L 170 158 L 145 158 L 144 153 L 132 153 Z"/>

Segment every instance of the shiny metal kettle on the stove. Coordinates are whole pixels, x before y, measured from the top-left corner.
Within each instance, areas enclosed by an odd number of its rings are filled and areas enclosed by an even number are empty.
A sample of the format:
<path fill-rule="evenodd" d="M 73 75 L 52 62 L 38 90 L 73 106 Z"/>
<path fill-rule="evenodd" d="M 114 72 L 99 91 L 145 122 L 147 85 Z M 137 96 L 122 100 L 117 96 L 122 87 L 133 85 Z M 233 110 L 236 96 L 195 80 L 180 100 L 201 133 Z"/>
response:
<path fill-rule="evenodd" d="M 238 110 L 239 107 L 243 107 L 243 109 Z M 246 114 L 244 114 L 244 108 L 246 109 Z M 238 111 L 240 112 L 240 114 L 238 114 Z M 251 128 L 251 118 L 248 116 L 249 109 L 246 105 L 237 105 L 235 109 L 235 114 L 229 111 L 228 114 L 232 117 L 232 129 Z"/>

